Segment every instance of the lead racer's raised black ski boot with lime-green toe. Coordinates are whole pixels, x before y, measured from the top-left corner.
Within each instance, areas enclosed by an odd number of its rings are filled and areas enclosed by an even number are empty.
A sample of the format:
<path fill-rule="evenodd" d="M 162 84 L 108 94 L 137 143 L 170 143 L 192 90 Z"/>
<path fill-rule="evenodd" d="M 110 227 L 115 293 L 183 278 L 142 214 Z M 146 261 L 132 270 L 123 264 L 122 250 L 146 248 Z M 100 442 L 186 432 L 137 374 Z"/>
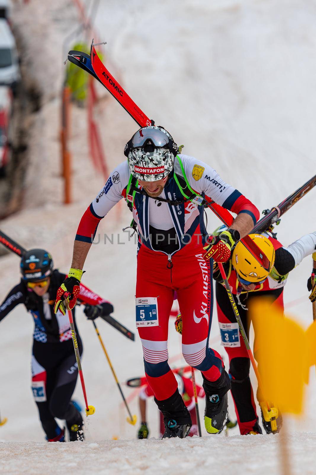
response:
<path fill-rule="evenodd" d="M 205 391 L 204 424 L 209 434 L 219 434 L 225 427 L 228 417 L 227 392 L 230 390 L 230 379 L 224 370 L 217 381 L 204 378 Z"/>

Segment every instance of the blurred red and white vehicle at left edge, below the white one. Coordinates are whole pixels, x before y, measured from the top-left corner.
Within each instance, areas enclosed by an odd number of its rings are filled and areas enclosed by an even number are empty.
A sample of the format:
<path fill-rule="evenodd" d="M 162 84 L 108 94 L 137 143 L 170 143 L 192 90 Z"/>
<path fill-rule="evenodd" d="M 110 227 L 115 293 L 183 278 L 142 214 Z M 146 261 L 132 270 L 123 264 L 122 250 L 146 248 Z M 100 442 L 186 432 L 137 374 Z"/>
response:
<path fill-rule="evenodd" d="M 6 165 L 11 153 L 8 139 L 12 112 L 12 92 L 9 86 L 0 86 L 0 178 L 5 176 Z"/>

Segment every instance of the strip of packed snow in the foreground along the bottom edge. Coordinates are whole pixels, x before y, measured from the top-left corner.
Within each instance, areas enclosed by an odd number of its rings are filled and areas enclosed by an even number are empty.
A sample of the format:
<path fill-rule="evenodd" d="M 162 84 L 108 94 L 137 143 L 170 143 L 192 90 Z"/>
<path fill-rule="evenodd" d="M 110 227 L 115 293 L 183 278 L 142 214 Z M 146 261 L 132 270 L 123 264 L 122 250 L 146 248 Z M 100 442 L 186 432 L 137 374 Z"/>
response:
<path fill-rule="evenodd" d="M 280 473 L 280 436 L 203 437 L 157 440 L 102 440 L 68 444 L 0 444 L 5 474 L 162 475 Z M 316 434 L 286 437 L 294 474 L 315 474 Z M 32 460 L 32 466 L 28 465 Z M 20 468 L 18 468 L 20 467 Z M 2 469 L 4 470 L 2 472 Z M 289 474 L 287 474 L 289 475 Z"/>

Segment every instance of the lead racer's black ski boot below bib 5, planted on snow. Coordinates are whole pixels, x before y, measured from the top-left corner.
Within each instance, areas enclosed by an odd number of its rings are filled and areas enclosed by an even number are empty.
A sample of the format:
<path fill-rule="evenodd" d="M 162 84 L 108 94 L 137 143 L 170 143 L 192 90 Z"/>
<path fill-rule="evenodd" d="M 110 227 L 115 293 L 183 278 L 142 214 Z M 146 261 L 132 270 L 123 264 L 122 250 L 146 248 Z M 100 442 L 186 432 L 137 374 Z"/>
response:
<path fill-rule="evenodd" d="M 178 389 L 168 399 L 158 401 L 155 398 L 158 409 L 163 413 L 164 434 L 163 439 L 171 437 L 187 437 L 192 426 L 191 416 L 185 407 Z"/>

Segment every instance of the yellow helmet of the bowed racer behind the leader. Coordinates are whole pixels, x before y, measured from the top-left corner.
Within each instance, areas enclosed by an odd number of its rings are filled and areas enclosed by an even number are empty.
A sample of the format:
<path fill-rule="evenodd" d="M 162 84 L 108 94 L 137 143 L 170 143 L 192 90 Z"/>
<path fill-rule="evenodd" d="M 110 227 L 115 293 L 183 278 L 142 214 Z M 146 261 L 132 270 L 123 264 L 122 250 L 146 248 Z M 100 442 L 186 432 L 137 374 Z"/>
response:
<path fill-rule="evenodd" d="M 274 266 L 275 250 L 270 239 L 260 234 L 249 234 L 256 245 L 270 261 L 269 270 L 265 270 L 242 242 L 238 242 L 233 251 L 232 264 L 237 274 L 248 282 L 260 282 L 266 279 Z"/>

